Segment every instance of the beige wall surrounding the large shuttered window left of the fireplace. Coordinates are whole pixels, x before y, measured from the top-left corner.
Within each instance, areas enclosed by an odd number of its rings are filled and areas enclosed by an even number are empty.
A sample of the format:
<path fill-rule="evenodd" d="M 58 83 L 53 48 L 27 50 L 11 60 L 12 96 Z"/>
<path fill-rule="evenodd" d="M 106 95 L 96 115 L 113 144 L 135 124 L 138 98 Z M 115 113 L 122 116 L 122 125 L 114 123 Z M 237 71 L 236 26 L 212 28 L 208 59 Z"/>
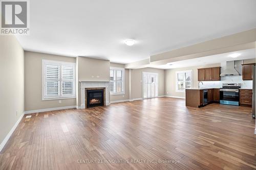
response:
<path fill-rule="evenodd" d="M 75 106 L 76 99 L 42 101 L 42 60 L 76 62 L 73 57 L 25 52 L 25 111 Z"/>

